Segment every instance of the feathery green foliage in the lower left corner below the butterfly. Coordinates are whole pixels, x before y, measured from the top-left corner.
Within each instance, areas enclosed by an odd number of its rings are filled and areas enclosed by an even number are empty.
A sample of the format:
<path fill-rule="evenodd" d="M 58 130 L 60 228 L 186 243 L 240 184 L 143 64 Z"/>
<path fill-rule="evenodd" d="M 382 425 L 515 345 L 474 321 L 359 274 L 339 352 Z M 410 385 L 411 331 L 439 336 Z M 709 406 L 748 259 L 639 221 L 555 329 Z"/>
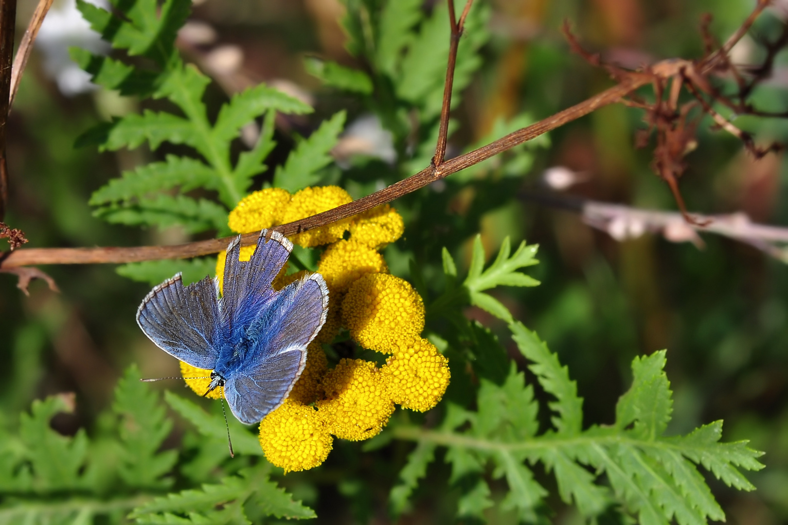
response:
<path fill-rule="evenodd" d="M 167 394 L 168 404 L 199 431 L 224 437 L 219 458 L 229 459 L 225 423 L 191 401 Z M 0 434 L 0 523 L 250 523 L 264 516 L 288 519 L 314 517 L 314 512 L 293 501 L 269 479 L 271 467 L 258 460 L 238 475 L 221 472 L 220 460 L 206 473 L 200 490 L 168 495 L 175 449 L 162 451 L 173 422 L 161 397 L 139 381 L 136 367 L 128 368 L 117 384 L 110 411 L 99 416 L 99 429 L 89 438 L 84 428 L 60 434 L 52 420 L 61 412 L 74 412 L 74 398 L 62 394 L 34 401 L 30 413 L 20 416 L 16 433 Z M 236 453 L 261 455 L 257 440 L 233 419 Z M 224 505 L 222 505 L 224 504 Z M 221 507 L 221 509 L 220 509 Z M 100 521 L 94 521 L 100 519 Z"/>

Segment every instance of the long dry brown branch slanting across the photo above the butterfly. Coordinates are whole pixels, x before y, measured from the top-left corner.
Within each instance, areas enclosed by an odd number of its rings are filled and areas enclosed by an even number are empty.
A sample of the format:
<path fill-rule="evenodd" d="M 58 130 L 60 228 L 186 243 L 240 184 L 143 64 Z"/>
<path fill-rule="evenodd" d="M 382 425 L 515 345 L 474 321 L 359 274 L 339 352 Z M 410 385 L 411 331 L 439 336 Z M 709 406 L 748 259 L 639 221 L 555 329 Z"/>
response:
<path fill-rule="evenodd" d="M 742 24 L 737 33 L 731 37 L 726 43 L 730 48 L 742 35 L 749 29 L 749 26 L 755 20 L 757 13 L 764 9 L 768 2 L 761 2 L 753 11 L 753 15 L 749 17 L 745 24 Z M 464 16 L 469 5 L 466 4 L 466 10 L 463 16 L 460 17 L 460 23 L 464 20 Z M 452 20 L 455 20 L 452 17 Z M 459 26 L 458 26 L 459 27 Z M 568 31 L 568 30 L 567 30 Z M 455 35 L 452 32 L 452 35 Z M 570 36 L 570 43 L 574 47 L 582 50 L 579 44 Z M 452 39 L 455 39 L 452 36 Z M 456 53 L 456 47 L 453 48 Z M 683 201 L 681 195 L 678 193 L 678 186 L 676 179 L 683 170 L 682 157 L 690 148 L 694 136 L 695 123 L 687 122 L 687 115 L 689 113 L 689 106 L 678 108 L 678 88 L 681 87 L 677 83 L 682 83 L 685 78 L 685 72 L 690 69 L 693 72 L 700 72 L 701 77 L 711 71 L 715 65 L 711 62 L 719 62 L 719 53 L 712 53 L 701 61 L 693 62 L 682 59 L 673 59 L 658 62 L 642 72 L 628 71 L 617 66 L 608 67 L 611 75 L 618 80 L 615 86 L 594 95 L 593 97 L 580 102 L 568 109 L 556 113 L 553 116 L 541 120 L 536 124 L 532 124 L 527 128 L 522 128 L 505 137 L 491 142 L 486 146 L 478 148 L 478 150 L 465 153 L 459 157 L 452 158 L 448 161 L 436 162 L 422 169 L 421 172 L 413 176 L 403 179 L 389 187 L 379 190 L 374 194 L 367 195 L 357 201 L 352 201 L 346 205 L 341 205 L 335 209 L 330 209 L 323 213 L 307 217 L 302 220 L 297 220 L 289 224 L 282 224 L 274 227 L 273 229 L 280 231 L 283 235 L 294 235 L 296 233 L 312 230 L 316 227 L 324 226 L 325 224 L 332 223 L 336 220 L 341 220 L 349 216 L 362 213 L 367 209 L 374 206 L 384 204 L 400 198 L 405 194 L 418 190 L 433 183 L 437 179 L 442 179 L 452 173 L 459 172 L 464 168 L 476 165 L 481 161 L 485 161 L 498 153 L 509 150 L 514 146 L 522 144 L 528 140 L 534 139 L 548 131 L 559 128 L 563 124 L 567 124 L 572 120 L 576 120 L 582 116 L 592 113 L 596 109 L 604 105 L 621 102 L 624 97 L 630 96 L 633 91 L 640 87 L 652 84 L 656 93 L 656 102 L 652 107 L 647 109 L 646 120 L 650 125 L 657 128 L 658 133 L 663 133 L 662 142 L 662 157 L 660 158 L 661 165 L 658 172 L 663 175 L 667 183 L 671 185 L 674 190 L 677 201 L 682 206 Z M 451 68 L 452 59 L 450 57 L 449 65 Z M 449 81 L 451 79 L 448 79 Z M 667 101 L 663 100 L 663 94 L 666 92 L 668 83 L 672 80 L 671 89 L 668 91 Z M 451 94 L 451 89 L 444 91 L 444 93 Z M 448 100 L 450 102 L 450 100 Z M 448 109 L 447 97 L 444 96 L 444 110 Z M 447 112 L 448 118 L 448 112 Z M 658 145 L 659 145 L 658 140 Z M 439 145 L 440 146 L 440 142 Z M 438 151 L 438 147 L 436 150 Z M 442 158 L 442 154 L 435 157 L 436 159 Z M 690 222 L 693 221 L 692 217 L 686 215 L 686 219 Z M 695 223 L 693 227 L 704 227 L 705 224 Z M 243 235 L 243 246 L 250 246 L 256 241 L 258 234 L 249 233 Z M 13 253 L 6 253 L 5 258 L 0 257 L 0 268 L 16 268 L 28 264 L 96 264 L 96 263 L 125 263 L 133 261 L 151 261 L 157 259 L 168 258 L 185 258 L 195 257 L 200 255 L 207 255 L 210 253 L 217 253 L 224 250 L 231 238 L 210 239 L 207 241 L 190 242 L 180 246 L 133 246 L 133 247 L 98 247 L 98 248 L 30 248 L 14 250 Z"/>

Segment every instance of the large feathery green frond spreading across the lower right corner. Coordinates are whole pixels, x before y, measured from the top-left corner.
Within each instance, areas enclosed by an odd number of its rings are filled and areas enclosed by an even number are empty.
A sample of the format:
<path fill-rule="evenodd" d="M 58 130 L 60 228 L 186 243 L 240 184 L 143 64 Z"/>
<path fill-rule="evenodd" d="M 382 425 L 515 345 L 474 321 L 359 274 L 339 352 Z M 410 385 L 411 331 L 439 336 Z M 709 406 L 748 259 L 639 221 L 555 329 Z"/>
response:
<path fill-rule="evenodd" d="M 719 443 L 722 423 L 667 437 L 671 420 L 670 383 L 663 371 L 665 352 L 636 357 L 630 390 L 616 405 L 611 426 L 582 430 L 582 399 L 556 355 L 522 324 L 511 324 L 512 336 L 530 364 L 539 385 L 556 398 L 548 404 L 552 428 L 538 433 L 538 406 L 533 386 L 526 385 L 514 363 L 503 385 L 481 379 L 475 411 L 450 405 L 440 431 L 414 431 L 420 446 L 446 446 L 452 479 L 474 476 L 459 501 L 461 516 L 481 517 L 489 506 L 489 488 L 478 472 L 506 479 L 502 508 L 519 519 L 536 521 L 547 491 L 528 464 L 541 462 L 556 477 L 561 499 L 574 502 L 587 518 L 611 505 L 622 505 L 638 523 L 706 523 L 724 519 L 703 475 L 703 466 L 717 479 L 740 490 L 753 490 L 739 469 L 760 470 L 762 453 L 747 442 Z M 410 436 L 410 429 L 398 434 Z M 410 468 L 407 467 L 407 468 Z M 422 471 L 426 465 L 419 464 Z M 488 470 L 489 469 L 489 470 Z M 403 475 L 403 479 L 406 476 Z M 412 479 L 412 476 L 407 479 Z M 411 487 L 412 490 L 412 487 Z M 401 504 L 400 504 L 401 505 Z"/>

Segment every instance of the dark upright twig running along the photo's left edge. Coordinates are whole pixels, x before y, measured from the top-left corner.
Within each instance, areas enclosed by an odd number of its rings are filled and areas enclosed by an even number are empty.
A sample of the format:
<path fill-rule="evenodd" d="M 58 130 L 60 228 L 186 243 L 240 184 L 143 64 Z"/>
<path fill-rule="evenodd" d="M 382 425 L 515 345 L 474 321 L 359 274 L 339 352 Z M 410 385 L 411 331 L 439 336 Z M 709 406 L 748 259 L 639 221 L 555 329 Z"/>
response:
<path fill-rule="evenodd" d="M 6 217 L 8 203 L 6 126 L 11 87 L 11 61 L 13 61 L 13 32 L 16 24 L 17 0 L 0 0 L 0 220 Z"/>

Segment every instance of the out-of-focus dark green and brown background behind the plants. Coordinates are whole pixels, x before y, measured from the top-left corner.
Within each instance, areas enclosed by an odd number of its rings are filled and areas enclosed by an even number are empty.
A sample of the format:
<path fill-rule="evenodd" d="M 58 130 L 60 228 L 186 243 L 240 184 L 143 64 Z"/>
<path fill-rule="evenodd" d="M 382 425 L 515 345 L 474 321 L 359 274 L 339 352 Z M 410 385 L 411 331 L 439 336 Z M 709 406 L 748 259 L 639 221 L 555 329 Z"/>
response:
<path fill-rule="evenodd" d="M 19 34 L 34 5 L 20 2 Z M 454 113 L 459 128 L 449 154 L 489 135 L 501 117 L 527 112 L 544 118 L 610 85 L 603 71 L 570 53 L 559 32 L 564 19 L 571 20 L 590 49 L 636 67 L 666 57 L 700 57 L 703 13 L 713 14 L 712 31 L 724 39 L 753 5 L 751 0 L 493 1 L 491 38 L 482 49 L 483 65 Z M 305 54 L 358 65 L 344 49 L 345 35 L 337 23 L 342 13 L 336 0 L 206 0 L 195 6 L 192 20 L 210 24 L 215 39 L 191 48 L 184 44 L 184 50 L 187 57 L 191 53 L 204 59 L 209 50 L 232 46 L 236 57 L 240 52 L 240 63 L 231 64 L 232 78 L 279 84 L 311 98 L 316 113 L 288 123 L 308 133 L 338 109 L 348 109 L 348 121 L 364 111 L 350 98 L 326 91 L 303 67 Z M 757 32 L 772 35 L 778 28 L 772 13 Z M 738 51 L 745 60 L 756 61 L 756 44 L 748 42 Z M 775 76 L 757 91 L 756 100 L 769 109 L 788 108 L 785 82 L 785 76 Z M 217 106 L 221 89 L 211 89 L 216 100 L 209 100 L 209 105 Z M 91 125 L 136 104 L 100 91 L 67 97 L 47 75 L 43 57 L 33 55 L 8 132 L 11 194 L 6 222 L 25 232 L 30 239 L 26 246 L 188 240 L 177 229 L 140 231 L 91 216 L 87 200 L 92 191 L 121 169 L 167 153 L 99 153 L 73 146 Z M 645 127 L 641 118 L 641 112 L 615 105 L 568 124 L 552 132 L 548 147 L 537 150 L 529 175 L 515 183 L 502 179 L 501 188 L 509 192 L 507 198 L 521 187 L 541 188 L 546 168 L 566 166 L 584 176 L 567 193 L 675 209 L 669 190 L 649 167 L 651 150 L 634 148 L 635 131 Z M 788 139 L 788 126 L 779 120 L 742 124 L 763 140 Z M 698 136 L 681 186 L 689 209 L 743 211 L 758 222 L 788 222 L 788 172 L 782 154 L 755 162 L 735 139 L 711 131 L 708 121 L 701 124 Z M 280 146 L 269 157 L 272 165 L 281 163 L 292 146 L 282 130 L 277 139 Z M 264 179 L 265 175 L 259 178 L 255 189 Z M 373 189 L 370 183 L 359 183 L 354 196 Z M 489 200 L 489 211 L 480 216 L 465 215 L 468 206 L 460 193 L 445 203 L 445 213 L 439 210 L 409 220 L 405 238 L 386 253 L 392 272 L 407 277 L 411 257 L 439 261 L 436 256 L 441 243 L 448 242 L 443 240 L 447 231 L 460 240 L 481 231 L 489 253 L 506 235 L 515 242 L 538 243 L 541 264 L 529 273 L 541 280 L 541 286 L 506 290 L 498 297 L 568 364 L 585 397 L 585 424 L 613 420 L 615 401 L 630 381 L 632 357 L 667 348 L 667 374 L 675 390 L 670 431 L 686 432 L 724 418 L 726 440 L 749 438 L 753 448 L 767 453 L 767 468 L 748 475 L 758 487 L 755 493 L 730 490 L 710 479 L 729 523 L 786 522 L 788 267 L 752 247 L 711 235 L 704 236 L 704 250 L 649 234 L 616 242 L 573 213 L 526 200 L 498 206 L 497 201 L 506 200 L 492 193 L 475 195 Z M 403 209 L 418 208 L 418 197 L 409 199 Z M 32 399 L 73 391 L 76 415 L 62 416 L 58 429 L 69 433 L 80 426 L 90 428 L 95 414 L 110 403 L 112 388 L 128 364 L 138 363 L 144 376 L 177 374 L 176 361 L 156 349 L 134 321 L 147 284 L 117 275 L 109 264 L 43 269 L 58 282 L 60 294 L 35 282 L 30 297 L 25 297 L 12 276 L 0 275 L 0 355 L 6 376 L 0 390 L 0 424 L 17 424 L 19 412 Z M 468 315 L 495 329 L 502 327 L 481 311 Z M 177 435 L 172 441 L 175 446 Z M 392 449 L 387 471 L 376 470 L 379 463 L 365 464 L 364 455 L 351 453 L 355 449 L 347 443 L 336 446 L 322 470 L 310 478 L 316 490 L 302 487 L 299 493 L 299 476 L 305 474 L 285 479 L 296 497 L 315 508 L 321 522 L 348 523 L 355 516 L 361 523 L 386 523 L 385 512 L 376 509 L 385 508 L 387 490 L 407 449 Z M 429 475 L 445 476 L 441 468 L 445 466 L 431 468 Z M 369 479 L 377 481 L 366 485 Z M 422 482 L 416 508 L 402 523 L 430 523 L 440 515 L 440 507 L 452 499 L 442 486 Z M 364 501 L 369 508 L 360 508 Z M 554 508 L 560 508 L 557 498 Z M 559 512 L 555 520 L 564 523 L 572 516 Z"/>

